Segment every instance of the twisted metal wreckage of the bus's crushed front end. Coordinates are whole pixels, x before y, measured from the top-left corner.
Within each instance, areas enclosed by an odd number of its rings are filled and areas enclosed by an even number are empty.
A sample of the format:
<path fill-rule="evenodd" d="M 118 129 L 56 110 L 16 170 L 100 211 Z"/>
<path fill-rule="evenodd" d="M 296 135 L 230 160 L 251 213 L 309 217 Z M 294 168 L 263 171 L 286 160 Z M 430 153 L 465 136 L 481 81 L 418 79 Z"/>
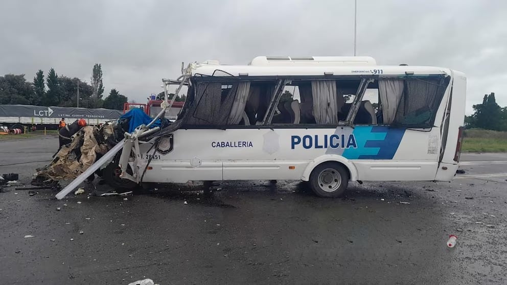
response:
<path fill-rule="evenodd" d="M 111 176 L 117 175 L 117 179 L 139 184 L 150 163 L 150 160 L 147 163 L 141 163 L 139 146 L 140 144 L 158 146 L 159 138 L 179 127 L 179 121 L 173 124 L 160 122 L 161 119 L 165 120 L 166 110 L 170 109 L 175 101 L 168 100 L 169 86 L 178 85 L 174 95 L 176 98 L 183 86 L 190 85 L 189 79 L 193 65 L 194 63 L 191 63 L 185 70 L 182 66 L 183 75 L 177 80 L 162 79 L 165 101 L 161 104 L 162 110 L 153 117 L 150 123 L 141 124 L 131 132 L 127 131 L 128 122 L 122 122 L 122 120 L 105 124 L 100 129 L 86 126 L 76 134 L 70 145 L 62 147 L 49 165 L 37 170 L 35 180 L 51 182 L 74 179 L 56 195 L 58 200 L 71 193 L 94 173 L 102 174 L 106 182 L 109 182 Z M 121 149 L 123 151 L 119 153 Z M 108 174 L 105 174 L 105 171 Z"/>

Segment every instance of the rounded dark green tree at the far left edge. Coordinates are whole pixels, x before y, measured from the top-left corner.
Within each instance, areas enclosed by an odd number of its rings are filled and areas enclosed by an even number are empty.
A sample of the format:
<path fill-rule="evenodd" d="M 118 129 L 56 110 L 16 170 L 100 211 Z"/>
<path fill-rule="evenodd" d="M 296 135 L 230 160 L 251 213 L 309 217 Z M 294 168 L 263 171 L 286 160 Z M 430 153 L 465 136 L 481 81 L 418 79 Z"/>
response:
<path fill-rule="evenodd" d="M 0 77 L 0 104 L 29 105 L 33 98 L 33 86 L 25 75 L 6 74 Z"/>

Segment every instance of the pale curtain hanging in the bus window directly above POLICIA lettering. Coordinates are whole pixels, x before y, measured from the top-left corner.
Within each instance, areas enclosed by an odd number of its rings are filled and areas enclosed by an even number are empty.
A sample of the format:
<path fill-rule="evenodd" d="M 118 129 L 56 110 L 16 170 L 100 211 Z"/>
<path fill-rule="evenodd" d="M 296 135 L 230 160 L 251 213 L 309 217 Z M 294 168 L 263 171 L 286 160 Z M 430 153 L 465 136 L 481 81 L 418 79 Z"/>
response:
<path fill-rule="evenodd" d="M 313 116 L 317 124 L 338 124 L 335 81 L 312 81 Z"/>

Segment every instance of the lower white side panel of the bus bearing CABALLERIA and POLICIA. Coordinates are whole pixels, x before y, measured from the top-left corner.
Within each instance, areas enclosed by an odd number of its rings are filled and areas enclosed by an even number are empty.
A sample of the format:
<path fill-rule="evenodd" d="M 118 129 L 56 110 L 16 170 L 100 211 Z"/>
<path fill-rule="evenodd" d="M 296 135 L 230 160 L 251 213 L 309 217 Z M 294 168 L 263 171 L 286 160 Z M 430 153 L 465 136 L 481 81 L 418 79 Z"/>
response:
<path fill-rule="evenodd" d="M 143 146 L 152 170 L 145 182 L 188 180 L 299 180 L 313 160 L 340 156 L 355 165 L 359 180 L 432 180 L 438 133 L 385 126 L 333 129 L 180 129 L 173 150 L 161 155 Z"/>

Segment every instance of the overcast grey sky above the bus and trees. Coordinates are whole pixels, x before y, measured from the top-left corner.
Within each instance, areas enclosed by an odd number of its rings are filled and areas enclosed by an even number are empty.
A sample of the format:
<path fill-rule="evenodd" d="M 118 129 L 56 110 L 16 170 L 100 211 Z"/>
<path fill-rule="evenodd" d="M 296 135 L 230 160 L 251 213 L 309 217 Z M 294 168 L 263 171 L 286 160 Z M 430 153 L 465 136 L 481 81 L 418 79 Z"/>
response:
<path fill-rule="evenodd" d="M 357 0 L 357 55 L 468 76 L 467 113 L 485 93 L 507 105 L 507 1 Z M 0 2 L 0 74 L 54 67 L 137 102 L 184 61 L 247 64 L 260 55 L 350 56 L 354 0 Z M 106 95 L 106 94 L 105 94 Z"/>

